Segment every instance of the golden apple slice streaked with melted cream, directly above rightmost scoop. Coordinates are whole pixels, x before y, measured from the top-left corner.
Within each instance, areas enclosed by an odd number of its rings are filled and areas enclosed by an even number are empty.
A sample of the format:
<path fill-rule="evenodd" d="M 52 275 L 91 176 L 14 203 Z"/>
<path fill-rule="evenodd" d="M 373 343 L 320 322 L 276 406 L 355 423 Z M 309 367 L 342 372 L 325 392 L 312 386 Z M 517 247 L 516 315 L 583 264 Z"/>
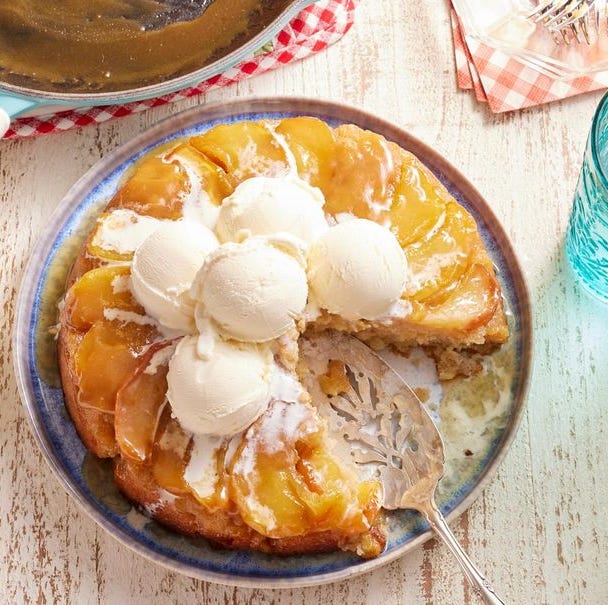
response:
<path fill-rule="evenodd" d="M 336 142 L 333 178 L 324 191 L 327 212 L 388 218 L 401 171 L 387 141 L 344 125 L 336 129 Z"/>

